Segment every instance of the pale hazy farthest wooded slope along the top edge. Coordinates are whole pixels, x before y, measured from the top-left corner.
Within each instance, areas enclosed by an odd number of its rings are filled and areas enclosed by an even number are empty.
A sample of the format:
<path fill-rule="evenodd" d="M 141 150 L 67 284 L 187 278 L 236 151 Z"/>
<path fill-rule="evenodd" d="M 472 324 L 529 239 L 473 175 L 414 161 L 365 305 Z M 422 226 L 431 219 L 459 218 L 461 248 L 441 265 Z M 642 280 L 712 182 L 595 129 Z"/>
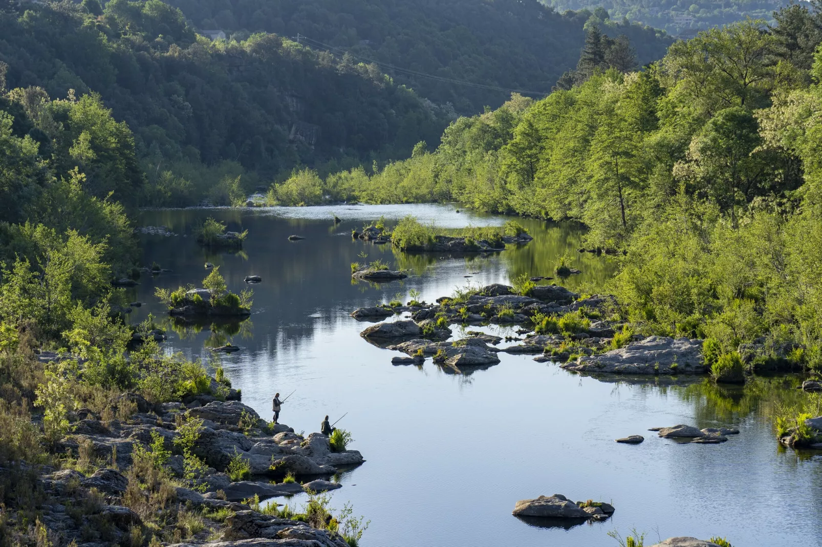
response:
<path fill-rule="evenodd" d="M 690 34 L 696 29 L 727 25 L 734 21 L 773 21 L 774 11 L 787 0 L 543 0 L 556 11 L 589 9 L 601 18 L 626 18 L 671 34 Z M 603 11 L 598 11 L 603 10 Z"/>

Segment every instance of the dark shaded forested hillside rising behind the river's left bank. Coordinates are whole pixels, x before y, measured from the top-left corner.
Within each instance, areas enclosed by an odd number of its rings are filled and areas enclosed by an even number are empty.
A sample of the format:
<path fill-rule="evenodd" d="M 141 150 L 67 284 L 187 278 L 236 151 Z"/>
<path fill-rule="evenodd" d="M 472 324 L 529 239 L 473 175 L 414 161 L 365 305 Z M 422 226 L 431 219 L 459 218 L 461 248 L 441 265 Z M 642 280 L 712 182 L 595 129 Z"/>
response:
<path fill-rule="evenodd" d="M 95 193 L 126 203 L 192 205 L 230 175 L 210 195 L 227 205 L 298 164 L 402 157 L 418 140 L 436 143 L 453 117 L 376 67 L 289 39 L 212 43 L 159 0 L 10 6 L 0 12 L 0 62 L 8 90 L 38 88 L 25 92 L 36 101 L 94 92 L 127 123 L 149 185 L 123 195 L 115 186 L 124 182 L 110 181 Z M 128 177 L 140 177 L 130 161 Z M 241 189 L 233 182 L 243 173 Z"/>

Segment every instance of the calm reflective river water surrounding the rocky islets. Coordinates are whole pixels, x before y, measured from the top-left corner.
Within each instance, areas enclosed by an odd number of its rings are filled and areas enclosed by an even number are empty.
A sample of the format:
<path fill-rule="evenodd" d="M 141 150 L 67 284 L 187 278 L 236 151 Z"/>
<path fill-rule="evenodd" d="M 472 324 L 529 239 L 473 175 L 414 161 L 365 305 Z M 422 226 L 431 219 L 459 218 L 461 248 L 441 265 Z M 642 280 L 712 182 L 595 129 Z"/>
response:
<path fill-rule="evenodd" d="M 332 212 L 343 222 L 331 223 Z M 594 379 L 504 353 L 499 365 L 472 375 L 448 374 L 430 360 L 421 368 L 391 365 L 399 354 L 360 338 L 368 324 L 350 311 L 398 292 L 407 301 L 411 289 L 433 301 L 467 283 L 552 275 L 566 251 L 583 271 L 569 287 L 602 281 L 615 269 L 605 257 L 575 252 L 579 228 L 537 221 L 520 220 L 535 237 L 528 246 L 475 259 L 395 255 L 390 246 L 350 237 L 381 215 L 390 223 L 405 214 L 452 228 L 505 221 L 457 214 L 450 205 L 144 211 L 143 225 L 178 235 L 142 236 L 145 264 L 173 273 L 144 276 L 132 289 L 147 303 L 132 320 L 149 312 L 163 318 L 155 287 L 199 284 L 205 261 L 220 266 L 235 292 L 246 275 L 261 275 L 250 321 L 228 333 L 242 352 L 220 357 L 222 365 L 242 388 L 242 401 L 267 420 L 274 393 L 296 389 L 280 421 L 298 432 L 319 430 L 326 414 L 334 421 L 348 412 L 339 426 L 353 433 L 349 448 L 367 462 L 339 476 L 344 486 L 332 504 L 350 501 L 355 514 L 371 520 L 366 547 L 616 547 L 607 532 L 626 536 L 632 528 L 646 532 L 645 545 L 669 536 L 727 536 L 734 547 L 822 545 L 822 455 L 780 450 L 750 389 L 728 392 L 686 378 Z M 192 225 L 207 216 L 247 229 L 243 251 L 196 246 Z M 291 234 L 305 240 L 288 241 Z M 349 263 L 362 252 L 411 275 L 379 287 L 352 283 Z M 169 330 L 165 346 L 206 356 L 224 336 Z M 679 423 L 733 426 L 741 434 L 725 444 L 689 445 L 647 431 Z M 646 440 L 613 442 L 628 434 Z M 530 526 L 510 514 L 518 499 L 555 493 L 608 501 L 617 512 L 569 530 Z"/>

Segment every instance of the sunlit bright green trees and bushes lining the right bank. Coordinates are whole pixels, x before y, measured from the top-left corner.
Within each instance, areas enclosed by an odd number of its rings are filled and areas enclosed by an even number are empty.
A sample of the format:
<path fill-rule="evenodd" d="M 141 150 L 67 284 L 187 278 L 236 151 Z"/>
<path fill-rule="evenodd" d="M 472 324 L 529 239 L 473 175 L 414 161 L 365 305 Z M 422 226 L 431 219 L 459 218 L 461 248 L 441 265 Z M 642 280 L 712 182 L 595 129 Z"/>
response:
<path fill-rule="evenodd" d="M 707 335 L 723 352 L 764 336 L 819 369 L 822 14 L 776 19 L 679 41 L 646 71 L 515 96 L 372 176 L 304 172 L 272 194 L 313 181 L 339 199 L 581 221 L 590 248 L 626 251 L 607 290 L 645 332 Z M 596 44 L 583 59 L 603 57 Z"/>

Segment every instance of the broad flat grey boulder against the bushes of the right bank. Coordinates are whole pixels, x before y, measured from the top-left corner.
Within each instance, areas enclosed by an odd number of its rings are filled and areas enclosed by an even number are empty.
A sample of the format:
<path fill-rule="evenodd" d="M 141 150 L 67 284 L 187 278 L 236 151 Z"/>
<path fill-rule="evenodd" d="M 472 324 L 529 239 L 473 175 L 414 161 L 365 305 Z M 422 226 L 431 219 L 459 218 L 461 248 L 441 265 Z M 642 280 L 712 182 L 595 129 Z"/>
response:
<path fill-rule="evenodd" d="M 704 373 L 702 340 L 649 336 L 641 342 L 601 355 L 580 356 L 561 365 L 578 372 L 608 372 L 617 374 Z"/>

